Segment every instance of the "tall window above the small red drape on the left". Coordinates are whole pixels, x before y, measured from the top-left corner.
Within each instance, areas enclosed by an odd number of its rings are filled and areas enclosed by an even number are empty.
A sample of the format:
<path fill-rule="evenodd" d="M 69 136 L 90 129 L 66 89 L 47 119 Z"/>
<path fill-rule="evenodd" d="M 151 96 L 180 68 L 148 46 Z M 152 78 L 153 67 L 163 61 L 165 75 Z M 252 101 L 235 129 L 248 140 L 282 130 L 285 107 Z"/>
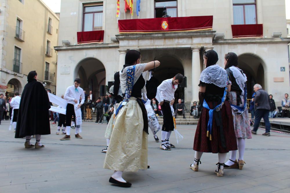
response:
<path fill-rule="evenodd" d="M 103 5 L 84 5 L 83 32 L 103 29 Z"/>

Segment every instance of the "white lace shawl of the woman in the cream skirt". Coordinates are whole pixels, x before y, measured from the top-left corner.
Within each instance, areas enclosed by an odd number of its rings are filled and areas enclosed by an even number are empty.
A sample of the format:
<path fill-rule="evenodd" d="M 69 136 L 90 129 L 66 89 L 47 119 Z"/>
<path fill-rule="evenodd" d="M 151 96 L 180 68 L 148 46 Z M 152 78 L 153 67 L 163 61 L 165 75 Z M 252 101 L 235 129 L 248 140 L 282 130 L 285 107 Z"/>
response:
<path fill-rule="evenodd" d="M 138 80 L 138 78 L 141 76 L 141 74 L 143 73 L 143 78 L 145 80 L 145 82 L 148 80 L 149 78 L 149 73 L 143 72 L 146 66 L 146 63 L 143 64 L 136 64 L 135 65 L 135 76 L 134 76 L 134 83 L 133 85 L 136 83 L 136 81 Z M 120 71 L 120 85 L 121 85 L 121 89 L 122 89 L 122 93 L 126 92 L 126 83 L 127 83 L 127 70 L 128 69 L 132 69 L 133 66 L 127 66 L 126 68 L 124 68 L 123 72 Z M 146 87 L 144 86 L 143 89 L 141 90 L 142 93 L 142 99 L 146 101 Z"/>

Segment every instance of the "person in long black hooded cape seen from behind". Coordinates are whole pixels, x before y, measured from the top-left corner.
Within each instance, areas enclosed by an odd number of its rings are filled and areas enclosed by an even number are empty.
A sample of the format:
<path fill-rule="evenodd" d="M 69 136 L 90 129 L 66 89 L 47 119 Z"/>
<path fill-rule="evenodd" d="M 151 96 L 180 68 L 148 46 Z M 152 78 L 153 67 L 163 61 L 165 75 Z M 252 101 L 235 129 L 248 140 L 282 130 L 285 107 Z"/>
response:
<path fill-rule="evenodd" d="M 41 135 L 50 134 L 48 94 L 37 82 L 36 71 L 28 73 L 27 81 L 21 95 L 15 138 L 26 137 L 25 148 L 44 148 L 40 142 Z M 35 146 L 30 144 L 31 135 L 35 135 Z"/>

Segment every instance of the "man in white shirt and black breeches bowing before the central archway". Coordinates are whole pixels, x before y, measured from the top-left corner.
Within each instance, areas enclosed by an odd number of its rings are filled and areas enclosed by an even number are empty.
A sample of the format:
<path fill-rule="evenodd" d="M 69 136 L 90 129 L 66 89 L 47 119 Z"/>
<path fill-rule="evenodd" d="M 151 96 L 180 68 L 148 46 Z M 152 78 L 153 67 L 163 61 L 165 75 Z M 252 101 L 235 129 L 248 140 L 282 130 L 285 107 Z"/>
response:
<path fill-rule="evenodd" d="M 171 148 L 175 148 L 174 145 L 169 143 L 171 131 L 174 130 L 173 114 L 170 106 L 174 103 L 174 93 L 177 89 L 177 85 L 182 83 L 182 81 L 183 75 L 176 74 L 173 78 L 164 80 L 157 87 L 156 99 L 159 101 L 163 115 L 160 145 L 160 149 L 162 150 L 171 150 Z"/>

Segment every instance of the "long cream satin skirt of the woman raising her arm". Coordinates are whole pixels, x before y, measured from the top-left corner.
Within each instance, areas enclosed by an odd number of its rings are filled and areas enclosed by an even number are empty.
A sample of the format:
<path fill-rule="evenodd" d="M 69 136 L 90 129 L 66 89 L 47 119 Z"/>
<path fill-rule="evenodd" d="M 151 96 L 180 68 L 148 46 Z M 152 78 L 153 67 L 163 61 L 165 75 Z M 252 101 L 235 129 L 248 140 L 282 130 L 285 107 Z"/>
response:
<path fill-rule="evenodd" d="M 141 107 L 131 97 L 116 117 L 104 168 L 127 172 L 147 169 L 148 134 L 143 127 Z"/>

